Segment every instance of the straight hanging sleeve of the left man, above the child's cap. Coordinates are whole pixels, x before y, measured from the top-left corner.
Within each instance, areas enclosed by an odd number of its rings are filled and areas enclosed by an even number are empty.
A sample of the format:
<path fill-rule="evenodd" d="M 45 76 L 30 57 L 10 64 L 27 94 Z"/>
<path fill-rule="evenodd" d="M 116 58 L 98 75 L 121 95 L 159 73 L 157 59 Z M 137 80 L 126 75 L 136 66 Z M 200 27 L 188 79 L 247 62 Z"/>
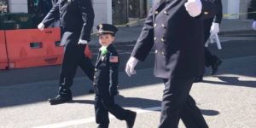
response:
<path fill-rule="evenodd" d="M 81 11 L 84 25 L 81 30 L 80 39 L 90 41 L 90 32 L 94 23 L 94 10 L 92 7 L 91 0 L 78 0 L 79 9 Z"/>

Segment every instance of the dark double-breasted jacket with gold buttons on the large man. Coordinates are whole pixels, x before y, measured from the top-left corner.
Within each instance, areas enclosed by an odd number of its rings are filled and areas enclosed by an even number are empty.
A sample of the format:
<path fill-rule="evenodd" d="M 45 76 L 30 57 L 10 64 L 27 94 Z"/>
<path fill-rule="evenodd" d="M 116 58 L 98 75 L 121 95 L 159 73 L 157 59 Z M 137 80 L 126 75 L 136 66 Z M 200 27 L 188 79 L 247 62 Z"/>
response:
<path fill-rule="evenodd" d="M 187 0 L 157 0 L 148 12 L 132 56 L 144 61 L 155 45 L 154 75 L 170 79 L 196 77 L 204 71 L 203 20 L 216 13 L 213 0 L 201 0 L 202 13 L 191 17 Z"/>

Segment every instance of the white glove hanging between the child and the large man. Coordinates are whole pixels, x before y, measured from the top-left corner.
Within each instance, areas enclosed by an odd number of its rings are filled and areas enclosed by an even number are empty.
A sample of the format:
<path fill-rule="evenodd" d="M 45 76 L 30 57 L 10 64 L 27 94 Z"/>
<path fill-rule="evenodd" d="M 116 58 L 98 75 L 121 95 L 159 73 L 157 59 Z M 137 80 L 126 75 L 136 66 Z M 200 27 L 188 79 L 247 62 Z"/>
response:
<path fill-rule="evenodd" d="M 127 61 L 126 67 L 125 67 L 125 72 L 127 73 L 127 75 L 129 77 L 131 77 L 131 75 L 133 75 L 133 74 L 136 74 L 134 67 L 136 67 L 137 62 L 138 62 L 138 60 L 133 56 L 131 56 L 130 59 Z"/>

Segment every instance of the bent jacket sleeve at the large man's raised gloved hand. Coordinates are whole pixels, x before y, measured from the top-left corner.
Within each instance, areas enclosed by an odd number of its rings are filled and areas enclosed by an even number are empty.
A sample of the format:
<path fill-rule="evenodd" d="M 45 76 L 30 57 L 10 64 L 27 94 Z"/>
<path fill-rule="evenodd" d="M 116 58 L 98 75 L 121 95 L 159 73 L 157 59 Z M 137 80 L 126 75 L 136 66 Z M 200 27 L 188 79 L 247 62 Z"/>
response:
<path fill-rule="evenodd" d="M 196 19 L 204 20 L 214 17 L 217 14 L 218 0 L 201 0 L 202 11 L 201 15 L 196 16 Z"/>

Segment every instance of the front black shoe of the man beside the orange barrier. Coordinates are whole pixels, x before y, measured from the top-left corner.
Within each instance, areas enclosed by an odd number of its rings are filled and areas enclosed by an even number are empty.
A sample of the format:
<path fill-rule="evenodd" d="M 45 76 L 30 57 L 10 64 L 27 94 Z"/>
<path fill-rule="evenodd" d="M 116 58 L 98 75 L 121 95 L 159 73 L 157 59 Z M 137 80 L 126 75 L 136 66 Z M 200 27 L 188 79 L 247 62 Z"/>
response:
<path fill-rule="evenodd" d="M 67 96 L 58 95 L 58 96 L 55 96 L 55 98 L 48 100 L 50 105 L 57 105 L 57 104 L 65 103 L 65 102 L 71 102 L 71 101 L 72 101 L 72 96 L 70 96 L 70 95 L 67 95 Z"/>

